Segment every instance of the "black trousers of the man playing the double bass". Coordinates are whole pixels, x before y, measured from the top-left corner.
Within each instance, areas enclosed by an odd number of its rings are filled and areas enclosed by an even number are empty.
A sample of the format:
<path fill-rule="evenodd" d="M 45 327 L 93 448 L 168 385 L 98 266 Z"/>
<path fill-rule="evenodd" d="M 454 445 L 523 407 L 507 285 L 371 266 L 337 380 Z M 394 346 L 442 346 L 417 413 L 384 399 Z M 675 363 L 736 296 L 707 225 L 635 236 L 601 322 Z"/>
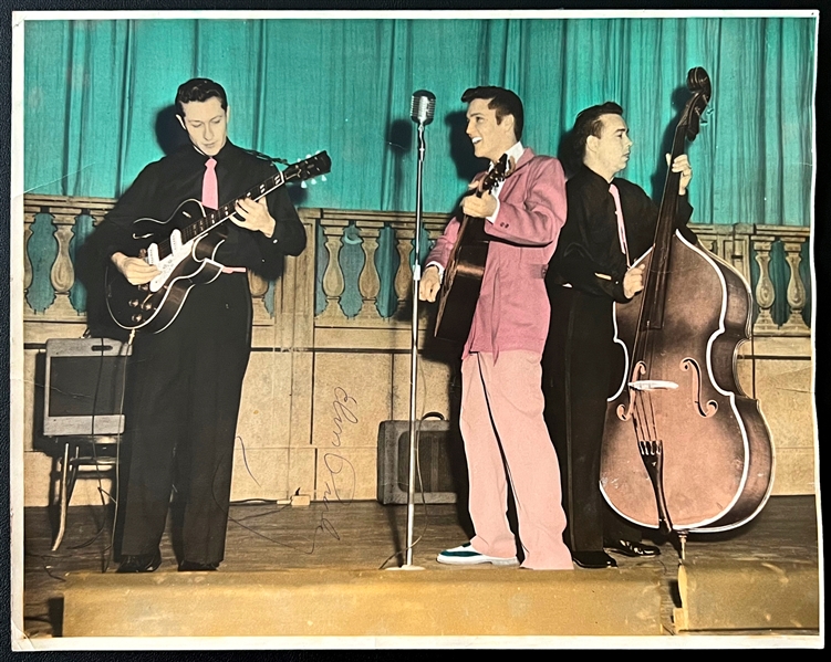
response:
<path fill-rule="evenodd" d="M 600 491 L 600 455 L 610 380 L 615 370 L 612 302 L 550 285 L 551 326 L 543 353 L 546 422 L 557 449 L 572 551 L 599 551 L 603 542 L 640 540 Z M 621 366 L 622 367 L 622 366 Z"/>

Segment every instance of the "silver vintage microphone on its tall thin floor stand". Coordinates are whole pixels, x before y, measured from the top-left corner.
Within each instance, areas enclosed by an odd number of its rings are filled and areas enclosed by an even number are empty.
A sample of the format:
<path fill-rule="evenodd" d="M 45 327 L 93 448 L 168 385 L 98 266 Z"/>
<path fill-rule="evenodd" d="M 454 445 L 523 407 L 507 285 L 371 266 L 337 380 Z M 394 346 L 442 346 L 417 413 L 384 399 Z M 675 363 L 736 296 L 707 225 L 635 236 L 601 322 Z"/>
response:
<path fill-rule="evenodd" d="M 424 170 L 424 127 L 433 122 L 436 111 L 436 95 L 426 90 L 413 93 L 409 117 L 418 127 L 418 167 L 416 169 L 416 224 L 415 242 L 413 245 L 413 337 L 409 355 L 409 477 L 407 483 L 407 547 L 406 561 L 402 570 L 422 570 L 413 565 L 413 518 L 415 515 L 415 466 L 416 466 L 416 379 L 418 361 L 418 283 L 422 280 L 422 172 Z"/>

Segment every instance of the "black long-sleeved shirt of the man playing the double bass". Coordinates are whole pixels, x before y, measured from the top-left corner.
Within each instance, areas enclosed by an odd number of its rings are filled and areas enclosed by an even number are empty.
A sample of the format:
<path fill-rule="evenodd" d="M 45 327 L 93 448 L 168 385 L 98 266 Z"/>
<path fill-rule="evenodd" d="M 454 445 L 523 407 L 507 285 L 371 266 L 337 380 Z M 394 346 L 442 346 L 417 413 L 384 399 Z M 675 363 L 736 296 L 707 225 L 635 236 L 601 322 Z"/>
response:
<path fill-rule="evenodd" d="M 655 241 L 658 207 L 641 187 L 619 178 L 612 183 L 621 198 L 626 244 L 634 263 Z M 588 294 L 629 301 L 623 294 L 626 255 L 621 250 L 614 198 L 609 186 L 603 177 L 585 166 L 565 183 L 569 211 L 547 274 L 549 288 L 569 283 Z M 687 228 L 692 213 L 687 196 L 681 196 L 677 228 L 685 239 L 695 243 L 696 237 Z"/>

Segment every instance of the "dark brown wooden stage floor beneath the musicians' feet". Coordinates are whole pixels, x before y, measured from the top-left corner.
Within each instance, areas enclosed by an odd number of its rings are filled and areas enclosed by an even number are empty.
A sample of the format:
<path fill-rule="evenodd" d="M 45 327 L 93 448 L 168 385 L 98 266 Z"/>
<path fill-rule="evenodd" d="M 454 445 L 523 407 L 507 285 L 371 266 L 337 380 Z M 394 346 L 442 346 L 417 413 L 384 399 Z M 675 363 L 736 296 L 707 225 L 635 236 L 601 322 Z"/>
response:
<path fill-rule="evenodd" d="M 48 508 L 25 511 L 24 631 L 28 638 L 63 634 L 63 591 L 69 574 L 114 572 L 110 560 L 110 516 L 103 506 L 70 509 L 63 544 L 51 551 L 52 522 Z M 413 555 L 415 565 L 455 572 L 435 559 L 445 548 L 468 539 L 466 516 L 451 504 L 417 505 Z M 219 574 L 287 569 L 376 570 L 398 565 L 393 556 L 406 539 L 406 507 L 376 502 L 312 503 L 310 506 L 238 504 L 230 511 L 226 560 Z M 694 535 L 687 542 L 693 561 L 800 561 L 819 564 L 817 508 L 812 496 L 771 497 L 750 524 L 727 533 Z M 176 572 L 169 535 L 162 544 L 163 565 L 156 575 Z M 669 543 L 655 558 L 617 556 L 622 570 L 659 571 L 661 629 L 677 634 L 673 610 L 678 607 L 678 557 Z M 478 571 L 505 571 L 484 566 Z M 576 569 L 603 574 L 607 570 Z M 115 578 L 114 578 L 115 579 Z M 821 599 L 821 596 L 820 596 Z M 716 632 L 713 632 L 716 633 Z M 724 631 L 719 632 L 725 634 Z M 741 634 L 742 632 L 738 632 Z M 744 632 L 747 634 L 748 632 Z M 818 630 L 754 630 L 752 635 L 818 635 Z"/>

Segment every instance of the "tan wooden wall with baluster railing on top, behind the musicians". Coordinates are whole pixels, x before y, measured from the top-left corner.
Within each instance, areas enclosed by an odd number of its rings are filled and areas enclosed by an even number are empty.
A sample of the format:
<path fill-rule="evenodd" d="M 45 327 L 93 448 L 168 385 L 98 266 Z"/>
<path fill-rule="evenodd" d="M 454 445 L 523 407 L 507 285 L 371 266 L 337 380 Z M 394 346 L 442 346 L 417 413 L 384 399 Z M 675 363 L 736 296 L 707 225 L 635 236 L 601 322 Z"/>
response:
<path fill-rule="evenodd" d="M 89 265 L 95 225 L 113 202 L 24 198 L 28 505 L 48 503 L 48 476 L 53 475 L 49 442 L 38 432 L 38 355 L 46 339 L 80 337 L 87 319 L 98 333 L 96 316 L 107 317 L 101 305 L 100 259 L 94 260 L 97 274 Z M 333 418 L 333 393 L 360 401 L 360 417 L 342 430 L 343 442 L 335 433 L 337 456 L 354 469 L 354 497 L 374 498 L 378 425 L 405 419 L 408 411 L 413 212 L 308 208 L 300 217 L 308 248 L 287 259 L 282 277 L 268 282 L 249 274 L 255 351 L 235 450 L 235 498 L 287 498 L 295 493 L 325 498 L 328 481 L 334 480 L 326 463 L 332 430 L 346 425 Z M 446 214 L 425 214 L 425 253 L 447 220 Z M 751 223 L 694 229 L 707 249 L 751 284 L 755 337 L 741 350 L 737 370 L 745 391 L 762 403 L 771 429 L 778 467 L 773 492 L 812 494 L 809 229 Z M 85 283 L 91 284 L 89 292 Z M 458 353 L 428 341 L 433 312 L 435 306 L 422 308 L 419 401 L 424 411 L 451 417 L 458 398 L 453 365 Z M 82 496 L 76 501 L 82 503 Z M 84 503 L 98 501 L 91 492 Z"/>

